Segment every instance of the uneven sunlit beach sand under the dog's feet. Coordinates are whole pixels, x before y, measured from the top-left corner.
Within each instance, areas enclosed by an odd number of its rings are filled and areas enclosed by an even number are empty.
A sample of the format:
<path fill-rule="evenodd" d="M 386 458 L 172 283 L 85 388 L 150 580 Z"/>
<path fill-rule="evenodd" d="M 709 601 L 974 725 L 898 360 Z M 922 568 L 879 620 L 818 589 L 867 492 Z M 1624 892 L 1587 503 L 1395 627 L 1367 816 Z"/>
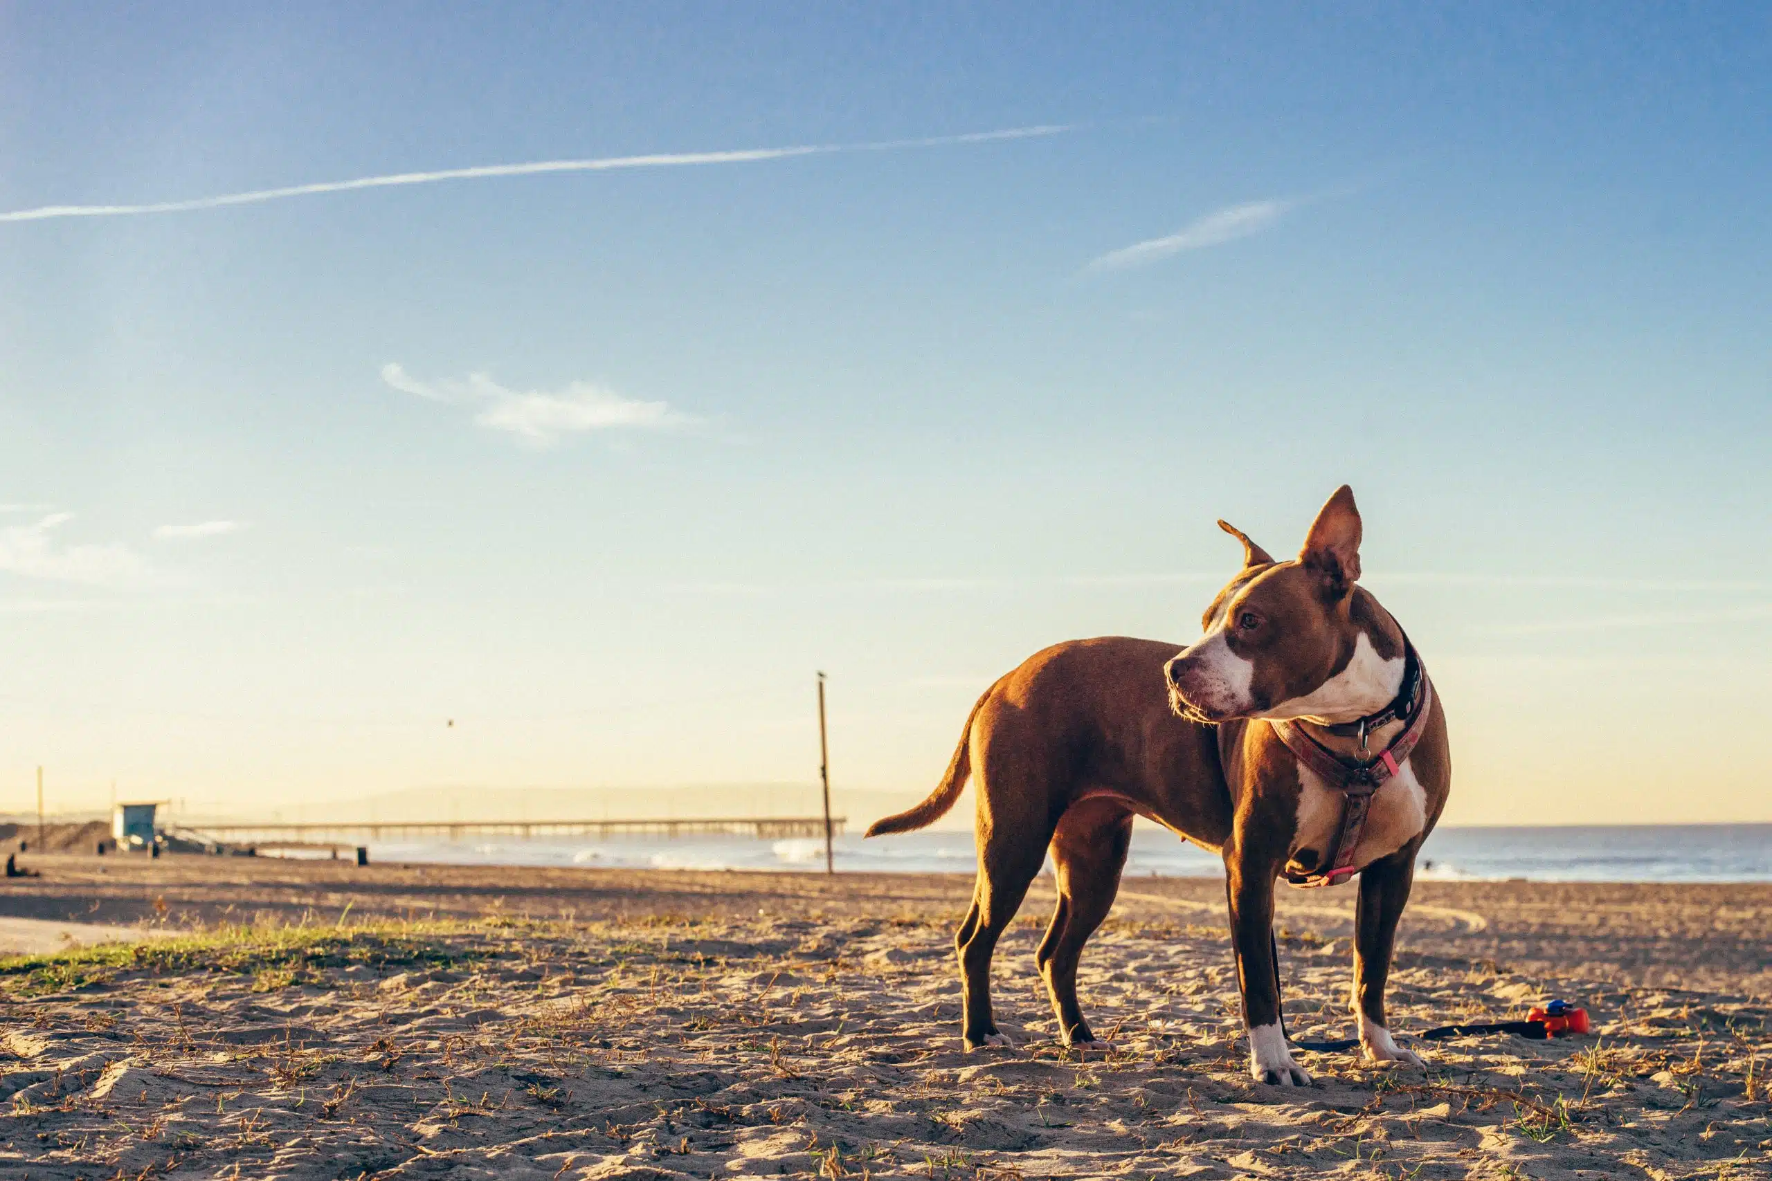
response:
<path fill-rule="evenodd" d="M 964 1054 L 962 876 L 19 861 L 0 914 L 163 935 L 0 976 L 9 1179 L 1772 1177 L 1772 885 L 1421 884 L 1400 1034 L 1570 997 L 1597 1036 L 1301 1054 L 1281 1089 L 1214 880 L 1125 884 L 1081 972 L 1115 1048 L 1079 1057 L 1049 880 L 998 954 L 1017 1048 Z M 259 933 L 175 935 L 227 922 Z M 1352 892 L 1279 926 L 1292 1032 L 1350 1036 Z"/>

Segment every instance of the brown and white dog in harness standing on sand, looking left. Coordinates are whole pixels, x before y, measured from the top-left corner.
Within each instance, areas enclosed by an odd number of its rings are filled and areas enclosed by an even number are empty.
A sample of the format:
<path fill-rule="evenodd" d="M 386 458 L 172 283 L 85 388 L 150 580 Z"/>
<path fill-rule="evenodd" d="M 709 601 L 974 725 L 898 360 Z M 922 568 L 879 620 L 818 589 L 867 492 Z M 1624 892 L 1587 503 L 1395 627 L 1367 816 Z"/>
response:
<path fill-rule="evenodd" d="M 1244 568 L 1175 645 L 1102 637 L 1035 653 L 973 706 L 936 791 L 868 836 L 921 829 L 976 784 L 978 882 L 955 937 L 966 1048 L 1010 1045 L 991 956 L 1047 850 L 1058 908 L 1037 961 L 1067 1045 L 1102 1046 L 1077 958 L 1120 889 L 1132 816 L 1224 857 L 1237 983 L 1258 1082 L 1308 1085 L 1279 1020 L 1274 882 L 1359 873 L 1354 1015 L 1366 1057 L 1419 1066 L 1384 1020 L 1416 850 L 1451 781 L 1446 721 L 1396 620 L 1357 586 L 1361 521 L 1341 487 L 1290 561 L 1240 531 Z M 1324 761 L 1327 758 L 1327 761 Z"/>

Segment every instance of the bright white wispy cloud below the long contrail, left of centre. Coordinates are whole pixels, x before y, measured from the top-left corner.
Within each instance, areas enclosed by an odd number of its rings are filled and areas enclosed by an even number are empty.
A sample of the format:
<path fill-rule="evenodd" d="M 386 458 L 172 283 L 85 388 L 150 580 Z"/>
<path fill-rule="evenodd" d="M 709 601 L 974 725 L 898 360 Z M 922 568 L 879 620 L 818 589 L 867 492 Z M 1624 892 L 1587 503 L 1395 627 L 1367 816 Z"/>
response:
<path fill-rule="evenodd" d="M 670 402 L 641 402 L 588 381 L 574 381 L 558 393 L 507 390 L 486 374 L 468 381 L 425 382 L 397 361 L 381 367 L 381 381 L 402 393 L 432 402 L 477 405 L 473 421 L 487 430 L 505 430 L 519 439 L 549 446 L 563 434 L 587 430 L 663 430 L 702 421 Z"/>

